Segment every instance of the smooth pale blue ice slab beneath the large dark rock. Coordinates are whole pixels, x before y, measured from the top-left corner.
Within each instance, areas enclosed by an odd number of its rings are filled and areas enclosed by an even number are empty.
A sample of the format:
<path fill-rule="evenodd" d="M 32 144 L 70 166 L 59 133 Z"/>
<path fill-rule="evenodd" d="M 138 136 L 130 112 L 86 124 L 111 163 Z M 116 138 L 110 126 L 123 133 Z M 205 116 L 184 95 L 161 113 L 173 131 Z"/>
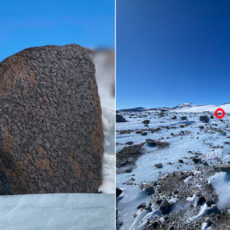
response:
<path fill-rule="evenodd" d="M 112 194 L 0 196 L 1 230 L 114 229 Z"/>

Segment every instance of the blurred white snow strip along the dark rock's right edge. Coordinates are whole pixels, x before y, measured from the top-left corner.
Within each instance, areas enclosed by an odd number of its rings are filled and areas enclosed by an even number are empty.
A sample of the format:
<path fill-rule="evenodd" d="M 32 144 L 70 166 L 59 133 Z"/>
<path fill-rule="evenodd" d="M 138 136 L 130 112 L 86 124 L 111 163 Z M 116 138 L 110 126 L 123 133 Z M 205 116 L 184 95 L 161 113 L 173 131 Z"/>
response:
<path fill-rule="evenodd" d="M 96 51 L 93 55 L 104 129 L 103 184 L 99 192 L 115 193 L 115 69 L 114 52 Z"/>

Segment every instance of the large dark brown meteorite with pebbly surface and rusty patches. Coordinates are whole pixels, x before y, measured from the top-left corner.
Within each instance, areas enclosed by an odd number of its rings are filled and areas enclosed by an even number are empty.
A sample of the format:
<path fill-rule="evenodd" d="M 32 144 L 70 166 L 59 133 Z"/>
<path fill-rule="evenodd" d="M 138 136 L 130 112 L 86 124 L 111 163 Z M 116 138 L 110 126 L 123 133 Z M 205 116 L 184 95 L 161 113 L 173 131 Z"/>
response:
<path fill-rule="evenodd" d="M 86 49 L 35 47 L 0 63 L 0 194 L 97 192 L 102 154 Z"/>

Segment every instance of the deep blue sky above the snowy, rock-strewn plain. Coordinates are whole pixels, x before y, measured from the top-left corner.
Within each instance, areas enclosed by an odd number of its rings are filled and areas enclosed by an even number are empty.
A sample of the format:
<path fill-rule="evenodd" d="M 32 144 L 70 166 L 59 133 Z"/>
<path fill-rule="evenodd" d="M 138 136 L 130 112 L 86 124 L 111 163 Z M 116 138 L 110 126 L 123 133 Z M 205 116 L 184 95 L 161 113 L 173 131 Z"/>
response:
<path fill-rule="evenodd" d="M 117 0 L 117 107 L 230 102 L 230 1 Z"/>

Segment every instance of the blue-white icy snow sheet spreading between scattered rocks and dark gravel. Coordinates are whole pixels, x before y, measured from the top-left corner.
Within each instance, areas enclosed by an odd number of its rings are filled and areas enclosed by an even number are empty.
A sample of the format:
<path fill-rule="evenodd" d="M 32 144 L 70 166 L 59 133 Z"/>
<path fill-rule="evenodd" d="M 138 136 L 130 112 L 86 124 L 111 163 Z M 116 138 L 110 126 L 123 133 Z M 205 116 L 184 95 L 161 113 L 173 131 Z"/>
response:
<path fill-rule="evenodd" d="M 162 174 L 194 170 L 195 164 L 191 157 L 194 157 L 195 153 L 209 165 L 215 165 L 220 159 L 222 162 L 230 161 L 228 154 L 230 145 L 224 144 L 229 142 L 230 117 L 228 115 L 223 119 L 225 123 L 214 118 L 210 119 L 210 123 L 205 124 L 203 129 L 200 129 L 199 126 L 204 126 L 204 123 L 199 120 L 199 116 L 204 113 L 167 112 L 165 117 L 160 117 L 155 111 L 123 112 L 121 114 L 128 122 L 117 123 L 117 151 L 123 149 L 128 141 L 140 144 L 146 138 L 166 141 L 170 143 L 170 146 L 157 149 L 144 145 L 143 154 L 137 159 L 136 167 L 132 172 L 117 174 L 117 187 L 123 190 L 123 197 L 117 201 L 119 221 L 123 222 L 120 230 L 141 229 L 142 223 L 137 222 L 137 217 L 134 218 L 133 215 L 138 214 L 138 205 L 142 202 L 146 204 L 150 202 L 150 196 L 140 189 L 142 183 L 148 184 L 156 181 Z M 175 115 L 177 119 L 173 120 L 172 117 Z M 208 113 L 208 116 L 211 115 L 213 114 Z M 187 116 L 188 121 L 181 120 L 182 116 Z M 147 136 L 136 134 L 135 131 L 129 134 L 119 133 L 120 130 L 146 129 L 142 123 L 146 119 L 150 120 L 149 128 L 160 127 L 161 130 L 154 133 L 147 131 Z M 185 126 L 181 127 L 183 124 Z M 167 129 L 167 126 L 171 128 Z M 227 135 L 213 131 L 212 127 L 224 130 Z M 180 135 L 182 131 L 184 135 Z M 179 163 L 179 159 L 182 159 L 184 163 Z M 163 168 L 154 167 L 157 163 L 162 163 Z M 154 213 L 157 207 L 152 208 Z"/>

